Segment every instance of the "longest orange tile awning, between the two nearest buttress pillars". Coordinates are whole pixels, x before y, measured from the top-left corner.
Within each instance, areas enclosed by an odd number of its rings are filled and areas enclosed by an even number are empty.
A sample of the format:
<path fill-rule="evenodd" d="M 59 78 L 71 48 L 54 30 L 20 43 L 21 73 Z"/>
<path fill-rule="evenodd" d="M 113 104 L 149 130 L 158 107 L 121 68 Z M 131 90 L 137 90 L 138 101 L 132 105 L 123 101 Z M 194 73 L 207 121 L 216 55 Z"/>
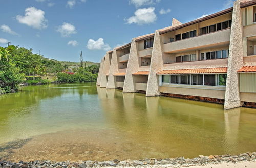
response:
<path fill-rule="evenodd" d="M 158 72 L 157 74 L 164 75 L 164 74 L 191 74 L 191 73 L 227 73 L 227 67 L 164 70 L 164 71 Z"/>

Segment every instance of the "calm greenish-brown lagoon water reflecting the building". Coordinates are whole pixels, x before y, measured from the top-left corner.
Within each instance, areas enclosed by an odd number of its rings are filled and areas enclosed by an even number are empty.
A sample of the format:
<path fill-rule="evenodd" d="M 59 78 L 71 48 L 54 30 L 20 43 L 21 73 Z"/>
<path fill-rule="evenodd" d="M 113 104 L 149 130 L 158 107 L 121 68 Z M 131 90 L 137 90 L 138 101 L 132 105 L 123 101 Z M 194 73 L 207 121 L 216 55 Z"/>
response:
<path fill-rule="evenodd" d="M 111 160 L 256 151 L 256 109 L 122 94 L 95 83 L 0 96 L 0 160 Z"/>

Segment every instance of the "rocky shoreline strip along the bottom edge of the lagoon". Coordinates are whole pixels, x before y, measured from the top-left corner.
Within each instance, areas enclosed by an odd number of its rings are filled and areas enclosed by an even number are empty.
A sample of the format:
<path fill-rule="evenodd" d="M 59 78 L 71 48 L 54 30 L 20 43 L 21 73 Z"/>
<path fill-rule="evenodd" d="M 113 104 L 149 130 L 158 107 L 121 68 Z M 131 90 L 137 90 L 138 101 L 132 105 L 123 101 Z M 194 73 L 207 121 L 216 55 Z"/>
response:
<path fill-rule="evenodd" d="M 0 167 L 57 167 L 57 168 L 69 168 L 69 167 L 189 167 L 200 166 L 207 164 L 221 164 L 221 163 L 243 163 L 243 162 L 256 162 L 256 152 L 247 152 L 239 155 L 210 155 L 193 159 L 185 159 L 184 157 L 170 158 L 170 159 L 143 159 L 143 160 L 111 160 L 111 161 L 65 161 L 55 162 L 51 160 L 36 160 L 36 161 L 19 161 L 18 163 L 12 163 L 10 161 L 0 161 Z"/>

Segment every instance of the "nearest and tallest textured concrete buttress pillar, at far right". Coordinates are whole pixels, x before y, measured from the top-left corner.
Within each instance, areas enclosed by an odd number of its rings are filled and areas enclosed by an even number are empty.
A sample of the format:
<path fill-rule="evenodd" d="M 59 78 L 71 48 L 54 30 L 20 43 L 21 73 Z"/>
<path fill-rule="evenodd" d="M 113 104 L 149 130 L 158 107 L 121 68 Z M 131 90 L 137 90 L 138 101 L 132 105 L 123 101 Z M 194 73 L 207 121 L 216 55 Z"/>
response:
<path fill-rule="evenodd" d="M 225 109 L 240 107 L 239 77 L 237 71 L 243 66 L 243 38 L 240 1 L 234 2 L 230 34 Z"/>

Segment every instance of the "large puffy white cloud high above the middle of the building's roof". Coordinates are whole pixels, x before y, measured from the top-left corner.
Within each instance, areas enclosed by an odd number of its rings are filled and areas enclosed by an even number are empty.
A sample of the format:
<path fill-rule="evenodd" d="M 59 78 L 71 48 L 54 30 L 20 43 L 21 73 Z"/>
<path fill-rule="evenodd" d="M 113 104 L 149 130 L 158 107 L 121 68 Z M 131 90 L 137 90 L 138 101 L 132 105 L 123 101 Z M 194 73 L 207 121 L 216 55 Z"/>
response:
<path fill-rule="evenodd" d="M 141 8 L 135 11 L 134 15 L 126 20 L 127 24 L 150 24 L 153 23 L 157 20 L 157 16 L 155 14 L 155 8 L 150 7 L 150 8 Z"/>

